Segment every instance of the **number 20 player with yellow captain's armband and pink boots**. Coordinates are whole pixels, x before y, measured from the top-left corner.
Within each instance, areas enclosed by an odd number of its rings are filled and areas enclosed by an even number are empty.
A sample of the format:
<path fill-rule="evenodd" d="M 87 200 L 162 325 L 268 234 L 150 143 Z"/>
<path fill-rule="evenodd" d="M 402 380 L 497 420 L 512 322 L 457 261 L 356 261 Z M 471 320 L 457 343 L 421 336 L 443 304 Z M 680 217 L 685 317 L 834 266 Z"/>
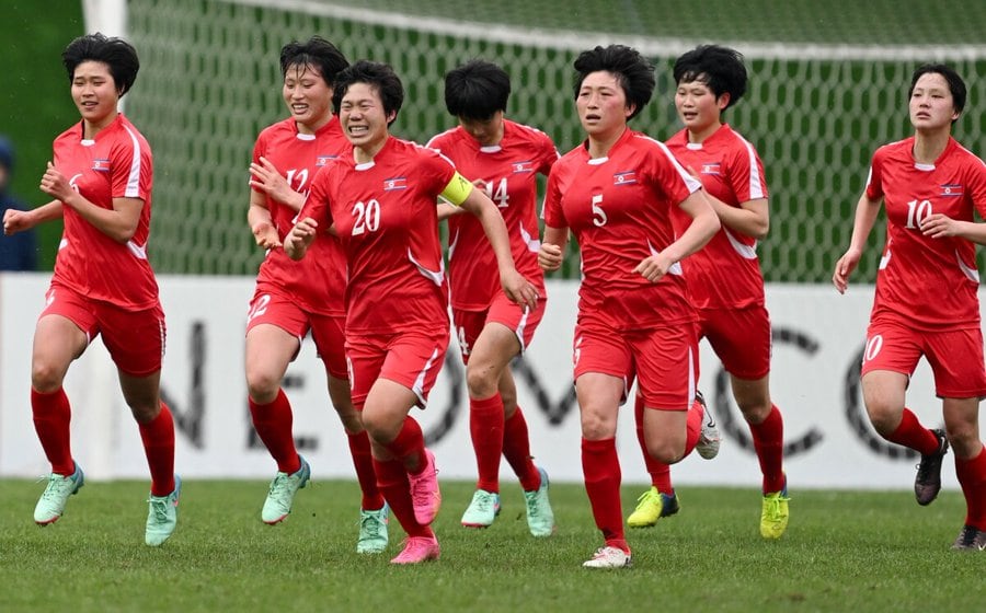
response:
<path fill-rule="evenodd" d="M 440 506 L 434 454 L 409 415 L 424 408 L 448 348 L 448 289 L 438 236 L 439 196 L 481 221 L 504 291 L 537 307 L 515 268 L 496 206 L 432 149 L 392 138 L 404 92 L 383 63 L 358 61 L 335 81 L 333 105 L 352 148 L 322 169 L 285 240 L 293 258 L 330 229 L 346 254 L 346 360 L 353 403 L 370 436 L 377 484 L 408 533 L 391 562 L 436 559 L 429 524 Z"/>

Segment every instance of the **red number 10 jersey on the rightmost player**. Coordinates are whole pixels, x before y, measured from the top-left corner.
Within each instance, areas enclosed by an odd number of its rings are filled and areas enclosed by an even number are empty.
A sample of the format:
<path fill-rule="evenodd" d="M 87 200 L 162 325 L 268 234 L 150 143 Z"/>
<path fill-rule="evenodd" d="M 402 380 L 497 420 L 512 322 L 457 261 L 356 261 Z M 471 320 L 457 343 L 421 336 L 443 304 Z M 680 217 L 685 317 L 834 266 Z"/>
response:
<path fill-rule="evenodd" d="M 876 275 L 871 317 L 903 317 L 918 329 L 979 326 L 979 273 L 975 245 L 965 239 L 931 239 L 920 223 L 931 213 L 973 220 L 986 217 L 986 165 L 949 138 L 933 164 L 915 163 L 914 137 L 873 154 L 867 196 L 883 198 L 886 246 Z"/>

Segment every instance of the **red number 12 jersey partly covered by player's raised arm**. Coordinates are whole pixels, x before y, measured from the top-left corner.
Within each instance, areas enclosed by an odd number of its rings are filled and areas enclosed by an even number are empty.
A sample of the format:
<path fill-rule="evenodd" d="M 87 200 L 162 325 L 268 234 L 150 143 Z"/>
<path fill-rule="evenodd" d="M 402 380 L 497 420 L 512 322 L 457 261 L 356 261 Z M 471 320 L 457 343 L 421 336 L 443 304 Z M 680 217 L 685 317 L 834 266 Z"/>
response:
<path fill-rule="evenodd" d="M 339 118 L 332 119 L 313 135 L 298 131 L 297 123 L 284 119 L 265 128 L 253 146 L 253 161 L 263 155 L 284 173 L 291 189 L 308 194 L 316 173 L 349 146 L 342 134 Z M 266 198 L 277 235 L 284 238 L 295 225 L 296 211 L 271 197 Z M 346 287 L 346 259 L 339 240 L 319 233 L 308 256 L 295 262 L 284 248 L 270 250 L 260 266 L 257 285 L 271 285 L 293 298 L 307 312 L 343 315 Z"/>

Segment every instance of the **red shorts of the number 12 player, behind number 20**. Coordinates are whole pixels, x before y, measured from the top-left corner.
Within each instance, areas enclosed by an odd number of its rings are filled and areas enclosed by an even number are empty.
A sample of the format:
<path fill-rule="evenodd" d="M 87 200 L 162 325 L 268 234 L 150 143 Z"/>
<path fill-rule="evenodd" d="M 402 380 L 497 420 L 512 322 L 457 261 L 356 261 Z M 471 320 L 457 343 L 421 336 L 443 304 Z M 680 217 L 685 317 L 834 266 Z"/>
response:
<path fill-rule="evenodd" d="M 296 337 L 299 343 L 310 331 L 316 350 L 329 374 L 336 379 L 346 378 L 344 315 L 309 313 L 291 298 L 257 288 L 246 312 L 246 332 L 260 324 L 275 325 Z"/>

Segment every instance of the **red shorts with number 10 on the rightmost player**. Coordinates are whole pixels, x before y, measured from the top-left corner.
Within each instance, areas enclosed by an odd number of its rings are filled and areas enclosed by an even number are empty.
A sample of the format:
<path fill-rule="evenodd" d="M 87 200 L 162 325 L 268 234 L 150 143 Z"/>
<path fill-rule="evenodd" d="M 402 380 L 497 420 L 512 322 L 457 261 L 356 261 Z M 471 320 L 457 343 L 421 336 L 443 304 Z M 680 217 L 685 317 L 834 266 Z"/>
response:
<path fill-rule="evenodd" d="M 862 374 L 890 370 L 910 377 L 921 356 L 931 366 L 939 397 L 986 396 L 983 332 L 978 327 L 929 332 L 892 321 L 870 322 Z"/>

